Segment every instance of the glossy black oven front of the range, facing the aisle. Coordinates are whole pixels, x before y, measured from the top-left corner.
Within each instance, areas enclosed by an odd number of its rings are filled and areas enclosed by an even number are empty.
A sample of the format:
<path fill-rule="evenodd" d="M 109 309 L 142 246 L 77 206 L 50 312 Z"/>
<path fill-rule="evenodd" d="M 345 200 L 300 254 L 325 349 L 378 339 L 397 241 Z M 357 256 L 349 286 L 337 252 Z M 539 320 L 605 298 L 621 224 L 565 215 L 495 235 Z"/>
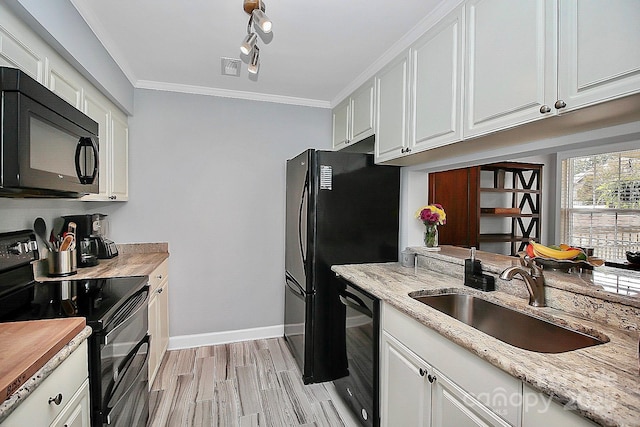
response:
<path fill-rule="evenodd" d="M 148 286 L 133 294 L 106 327 L 99 367 L 92 373 L 100 374 L 94 427 L 145 426 L 149 418 L 148 296 Z"/>

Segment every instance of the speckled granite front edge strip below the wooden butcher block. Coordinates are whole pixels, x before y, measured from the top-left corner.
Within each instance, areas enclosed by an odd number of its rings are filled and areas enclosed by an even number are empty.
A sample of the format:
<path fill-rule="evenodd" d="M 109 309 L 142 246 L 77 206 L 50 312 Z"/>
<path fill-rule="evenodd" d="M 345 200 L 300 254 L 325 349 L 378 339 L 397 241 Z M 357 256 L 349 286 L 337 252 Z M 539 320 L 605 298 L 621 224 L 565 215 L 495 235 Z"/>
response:
<path fill-rule="evenodd" d="M 85 326 L 75 337 L 71 339 L 60 351 L 58 351 L 42 368 L 40 368 L 22 387 L 0 404 L 0 423 L 13 412 L 38 386 L 53 372 L 62 362 L 69 357 L 91 335 L 91 327 Z"/>

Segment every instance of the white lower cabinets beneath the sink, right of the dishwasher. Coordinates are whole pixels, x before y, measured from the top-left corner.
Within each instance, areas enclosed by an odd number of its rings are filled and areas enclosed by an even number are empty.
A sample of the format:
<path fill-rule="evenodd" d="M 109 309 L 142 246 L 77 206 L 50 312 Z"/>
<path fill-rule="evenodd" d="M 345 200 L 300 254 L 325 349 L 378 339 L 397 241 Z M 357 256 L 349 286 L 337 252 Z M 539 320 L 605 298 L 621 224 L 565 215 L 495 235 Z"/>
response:
<path fill-rule="evenodd" d="M 594 425 L 388 304 L 381 324 L 382 426 Z"/>

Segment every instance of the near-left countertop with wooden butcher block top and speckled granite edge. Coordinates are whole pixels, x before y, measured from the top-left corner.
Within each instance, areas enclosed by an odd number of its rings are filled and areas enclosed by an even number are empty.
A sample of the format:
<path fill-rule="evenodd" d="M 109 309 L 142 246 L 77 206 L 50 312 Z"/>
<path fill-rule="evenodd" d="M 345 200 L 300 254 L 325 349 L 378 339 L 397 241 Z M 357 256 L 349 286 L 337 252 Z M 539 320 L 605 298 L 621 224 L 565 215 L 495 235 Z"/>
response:
<path fill-rule="evenodd" d="M 0 323 L 0 422 L 90 335 L 83 317 Z"/>

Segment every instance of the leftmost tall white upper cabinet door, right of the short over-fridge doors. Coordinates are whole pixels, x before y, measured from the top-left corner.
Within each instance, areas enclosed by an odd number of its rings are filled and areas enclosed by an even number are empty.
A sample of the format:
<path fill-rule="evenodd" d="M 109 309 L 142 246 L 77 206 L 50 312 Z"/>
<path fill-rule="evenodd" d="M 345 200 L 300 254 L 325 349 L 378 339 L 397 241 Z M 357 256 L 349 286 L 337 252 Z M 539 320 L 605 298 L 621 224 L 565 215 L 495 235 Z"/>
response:
<path fill-rule="evenodd" d="M 407 147 L 408 52 L 376 76 L 376 162 L 404 154 Z"/>

